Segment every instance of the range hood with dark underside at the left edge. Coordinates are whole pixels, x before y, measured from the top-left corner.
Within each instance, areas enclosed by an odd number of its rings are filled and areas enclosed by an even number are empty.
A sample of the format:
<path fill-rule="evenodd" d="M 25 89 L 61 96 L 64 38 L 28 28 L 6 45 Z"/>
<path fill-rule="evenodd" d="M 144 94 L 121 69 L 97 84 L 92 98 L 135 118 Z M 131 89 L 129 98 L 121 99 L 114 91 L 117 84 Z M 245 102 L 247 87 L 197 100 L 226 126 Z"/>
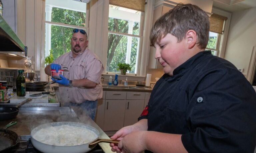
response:
<path fill-rule="evenodd" d="M 27 46 L 25 46 L 20 38 L 13 32 L 11 27 L 6 23 L 0 15 L 0 53 L 19 52 L 27 56 Z"/>

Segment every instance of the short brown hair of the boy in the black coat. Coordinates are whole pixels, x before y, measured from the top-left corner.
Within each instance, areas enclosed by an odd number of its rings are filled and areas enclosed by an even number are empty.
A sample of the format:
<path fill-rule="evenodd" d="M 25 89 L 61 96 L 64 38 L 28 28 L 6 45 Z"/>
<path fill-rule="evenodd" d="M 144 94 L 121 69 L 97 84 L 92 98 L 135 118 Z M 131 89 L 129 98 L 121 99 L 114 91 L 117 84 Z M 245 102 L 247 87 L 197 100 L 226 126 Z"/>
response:
<path fill-rule="evenodd" d="M 209 39 L 210 22 L 208 15 L 196 5 L 179 3 L 165 13 L 151 29 L 150 45 L 161 40 L 168 33 L 175 36 L 180 42 L 188 30 L 197 34 L 198 47 L 205 49 Z"/>

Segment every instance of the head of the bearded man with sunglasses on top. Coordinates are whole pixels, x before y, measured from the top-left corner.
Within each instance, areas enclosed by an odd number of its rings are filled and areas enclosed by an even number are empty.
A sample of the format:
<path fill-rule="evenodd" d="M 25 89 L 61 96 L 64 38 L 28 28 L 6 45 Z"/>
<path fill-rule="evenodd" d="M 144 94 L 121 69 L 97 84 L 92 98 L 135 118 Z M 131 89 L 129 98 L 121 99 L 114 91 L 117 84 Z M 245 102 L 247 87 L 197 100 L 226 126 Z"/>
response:
<path fill-rule="evenodd" d="M 71 50 L 73 55 L 78 55 L 79 53 L 85 51 L 88 45 L 87 34 L 82 29 L 74 29 L 71 38 Z"/>

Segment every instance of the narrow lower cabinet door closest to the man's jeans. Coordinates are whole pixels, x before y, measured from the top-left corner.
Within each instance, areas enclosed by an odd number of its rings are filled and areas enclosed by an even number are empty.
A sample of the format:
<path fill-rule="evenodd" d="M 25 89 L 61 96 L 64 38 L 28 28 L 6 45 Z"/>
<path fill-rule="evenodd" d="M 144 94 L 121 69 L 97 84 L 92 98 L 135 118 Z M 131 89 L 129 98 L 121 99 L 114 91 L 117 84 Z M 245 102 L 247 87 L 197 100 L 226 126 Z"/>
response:
<path fill-rule="evenodd" d="M 103 129 L 104 127 L 105 99 L 98 99 L 95 123 Z"/>

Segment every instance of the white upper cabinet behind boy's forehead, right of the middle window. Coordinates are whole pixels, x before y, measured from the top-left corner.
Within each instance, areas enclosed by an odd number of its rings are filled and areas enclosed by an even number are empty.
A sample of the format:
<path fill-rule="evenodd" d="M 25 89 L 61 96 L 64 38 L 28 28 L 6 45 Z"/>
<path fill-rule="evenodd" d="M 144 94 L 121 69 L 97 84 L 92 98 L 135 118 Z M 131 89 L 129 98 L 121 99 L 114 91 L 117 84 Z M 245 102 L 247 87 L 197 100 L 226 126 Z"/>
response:
<path fill-rule="evenodd" d="M 154 15 L 153 15 L 153 26 L 157 19 L 159 19 L 163 14 L 168 12 L 171 8 L 167 6 L 159 6 L 154 9 Z M 162 65 L 159 63 L 158 60 L 155 59 L 155 53 L 156 49 L 155 47 L 150 47 L 149 50 L 149 59 L 148 59 L 148 68 L 152 69 L 162 69 Z"/>

